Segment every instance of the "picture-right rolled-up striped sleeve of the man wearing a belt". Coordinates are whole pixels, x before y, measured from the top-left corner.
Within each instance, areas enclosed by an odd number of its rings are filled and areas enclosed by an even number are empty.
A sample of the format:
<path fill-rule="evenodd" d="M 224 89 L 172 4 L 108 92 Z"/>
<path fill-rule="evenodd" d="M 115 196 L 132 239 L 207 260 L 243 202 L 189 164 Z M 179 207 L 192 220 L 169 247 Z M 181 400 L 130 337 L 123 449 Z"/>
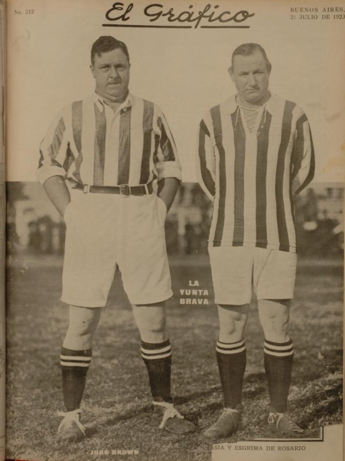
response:
<path fill-rule="evenodd" d="M 174 137 L 162 111 L 155 106 L 155 151 L 154 164 L 158 181 L 163 178 L 182 180 L 182 169 L 178 158 Z"/>

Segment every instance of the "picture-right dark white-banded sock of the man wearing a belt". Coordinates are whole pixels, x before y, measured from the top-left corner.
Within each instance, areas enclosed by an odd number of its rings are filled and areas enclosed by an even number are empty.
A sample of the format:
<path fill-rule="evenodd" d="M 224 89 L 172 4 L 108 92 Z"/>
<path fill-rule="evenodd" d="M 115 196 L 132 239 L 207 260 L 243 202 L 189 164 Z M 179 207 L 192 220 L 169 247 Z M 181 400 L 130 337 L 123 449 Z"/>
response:
<path fill-rule="evenodd" d="M 171 346 L 170 341 L 162 343 L 141 342 L 141 357 L 146 365 L 151 393 L 154 400 L 159 397 L 164 402 L 171 402 L 170 370 Z"/>

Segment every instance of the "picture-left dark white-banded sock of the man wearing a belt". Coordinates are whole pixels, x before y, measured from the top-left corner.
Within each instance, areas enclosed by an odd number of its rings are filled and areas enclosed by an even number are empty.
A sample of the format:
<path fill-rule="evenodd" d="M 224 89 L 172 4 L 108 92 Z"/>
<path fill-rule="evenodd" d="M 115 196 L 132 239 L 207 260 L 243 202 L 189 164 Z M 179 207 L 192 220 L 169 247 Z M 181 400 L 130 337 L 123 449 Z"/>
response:
<path fill-rule="evenodd" d="M 61 348 L 63 402 L 68 411 L 75 410 L 80 406 L 91 358 L 92 349 Z"/>

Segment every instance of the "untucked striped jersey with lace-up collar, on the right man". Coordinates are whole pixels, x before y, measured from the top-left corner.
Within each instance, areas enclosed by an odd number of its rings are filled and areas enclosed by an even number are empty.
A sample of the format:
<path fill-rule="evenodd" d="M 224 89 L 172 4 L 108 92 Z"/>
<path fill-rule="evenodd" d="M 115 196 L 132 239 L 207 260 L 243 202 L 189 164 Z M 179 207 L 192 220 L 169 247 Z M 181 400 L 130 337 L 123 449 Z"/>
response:
<path fill-rule="evenodd" d="M 256 246 L 296 252 L 293 196 L 314 176 L 309 122 L 272 94 L 248 130 L 233 96 L 199 126 L 197 173 L 213 200 L 209 246 Z"/>

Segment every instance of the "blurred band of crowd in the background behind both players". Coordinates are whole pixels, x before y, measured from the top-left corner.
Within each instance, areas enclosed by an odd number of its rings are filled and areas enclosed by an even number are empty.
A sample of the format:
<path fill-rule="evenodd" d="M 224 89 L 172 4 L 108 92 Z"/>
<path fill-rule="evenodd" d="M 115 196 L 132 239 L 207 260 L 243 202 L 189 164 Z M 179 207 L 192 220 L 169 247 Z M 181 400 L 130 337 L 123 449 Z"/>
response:
<path fill-rule="evenodd" d="M 8 253 L 26 250 L 62 255 L 66 227 L 42 187 L 31 182 L 7 186 Z M 299 255 L 342 258 L 343 205 L 344 188 L 337 183 L 312 184 L 296 197 Z M 211 214 L 211 202 L 200 186 L 182 184 L 166 219 L 168 254 L 206 254 Z"/>

